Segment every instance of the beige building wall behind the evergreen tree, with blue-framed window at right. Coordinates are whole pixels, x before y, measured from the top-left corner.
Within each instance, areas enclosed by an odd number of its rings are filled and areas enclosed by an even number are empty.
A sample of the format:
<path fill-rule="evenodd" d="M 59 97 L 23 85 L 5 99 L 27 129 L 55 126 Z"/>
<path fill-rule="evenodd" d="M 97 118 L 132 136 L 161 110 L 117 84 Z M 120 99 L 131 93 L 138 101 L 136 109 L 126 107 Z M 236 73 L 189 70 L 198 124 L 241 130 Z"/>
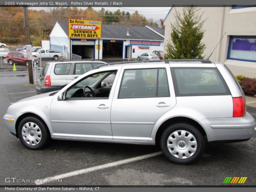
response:
<path fill-rule="evenodd" d="M 182 7 L 176 7 L 176 10 L 182 14 Z M 220 44 L 212 53 L 210 60 L 225 63 L 234 75 L 256 77 L 256 62 L 227 59 L 230 36 L 256 36 L 256 7 L 241 9 L 231 9 L 229 6 L 202 7 L 200 13 L 202 12 L 204 12 L 203 18 L 207 18 L 204 23 L 205 32 L 202 40 L 206 44 L 204 51 L 205 58 L 208 58 L 226 32 Z M 172 28 L 170 23 L 175 21 L 174 14 L 175 10 L 172 8 L 172 11 L 164 21 L 165 43 L 171 37 Z"/>

